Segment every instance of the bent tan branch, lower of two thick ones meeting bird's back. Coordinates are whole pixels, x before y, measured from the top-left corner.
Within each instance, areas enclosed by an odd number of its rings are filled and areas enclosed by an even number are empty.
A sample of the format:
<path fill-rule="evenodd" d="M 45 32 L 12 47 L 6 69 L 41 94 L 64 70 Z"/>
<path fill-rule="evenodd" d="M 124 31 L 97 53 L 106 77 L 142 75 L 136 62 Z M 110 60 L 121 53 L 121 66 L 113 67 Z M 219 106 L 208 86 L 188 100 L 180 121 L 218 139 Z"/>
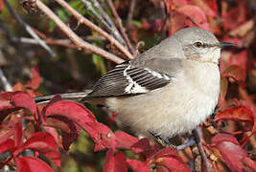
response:
<path fill-rule="evenodd" d="M 88 42 L 82 40 L 75 32 L 73 32 L 69 27 L 67 27 L 58 16 L 51 11 L 47 6 L 45 6 L 40 0 L 36 0 L 36 6 L 39 10 L 43 11 L 50 19 L 52 19 L 59 27 L 59 29 L 64 32 L 77 46 L 78 49 L 84 49 L 87 51 L 91 51 L 95 54 L 100 54 L 105 58 L 112 60 L 116 63 L 122 63 L 124 60 L 115 54 L 110 54 L 99 47 L 93 46 Z"/>

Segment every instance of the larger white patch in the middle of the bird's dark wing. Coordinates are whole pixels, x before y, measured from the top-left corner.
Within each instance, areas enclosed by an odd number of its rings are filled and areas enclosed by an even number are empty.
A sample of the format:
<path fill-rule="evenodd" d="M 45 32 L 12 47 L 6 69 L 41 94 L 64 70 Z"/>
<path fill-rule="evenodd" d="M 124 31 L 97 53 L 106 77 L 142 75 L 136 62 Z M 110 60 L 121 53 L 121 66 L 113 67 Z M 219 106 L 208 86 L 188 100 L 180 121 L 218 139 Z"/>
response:
<path fill-rule="evenodd" d="M 128 75 L 128 69 L 130 69 L 130 65 L 128 65 L 128 68 L 124 70 L 124 75 L 128 79 L 128 86 L 126 87 L 125 92 L 128 94 L 140 94 L 149 92 L 147 88 L 140 86 Z"/>

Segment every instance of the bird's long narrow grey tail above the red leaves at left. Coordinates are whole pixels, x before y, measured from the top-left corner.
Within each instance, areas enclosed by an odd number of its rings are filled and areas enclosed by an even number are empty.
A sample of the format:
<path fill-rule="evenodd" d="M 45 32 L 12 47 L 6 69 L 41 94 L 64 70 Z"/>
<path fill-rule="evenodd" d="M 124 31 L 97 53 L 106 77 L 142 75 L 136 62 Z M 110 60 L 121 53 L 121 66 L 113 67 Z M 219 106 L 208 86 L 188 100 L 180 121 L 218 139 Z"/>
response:
<path fill-rule="evenodd" d="M 86 97 L 91 90 L 84 90 L 82 92 L 74 92 L 74 93 L 64 93 L 59 94 L 61 99 L 63 100 L 74 100 L 74 101 L 81 101 L 84 97 Z M 49 95 L 49 96 L 42 96 L 42 97 L 35 97 L 35 102 L 37 105 L 39 104 L 45 104 L 50 101 L 52 97 L 55 97 L 56 95 Z"/>

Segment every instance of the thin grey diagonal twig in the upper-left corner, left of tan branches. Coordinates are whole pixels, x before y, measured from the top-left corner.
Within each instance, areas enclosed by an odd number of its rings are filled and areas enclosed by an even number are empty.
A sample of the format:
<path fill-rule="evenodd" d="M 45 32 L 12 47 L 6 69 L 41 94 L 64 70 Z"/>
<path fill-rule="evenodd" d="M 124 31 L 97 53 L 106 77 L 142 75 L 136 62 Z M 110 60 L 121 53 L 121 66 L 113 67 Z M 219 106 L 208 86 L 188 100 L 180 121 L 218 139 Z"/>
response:
<path fill-rule="evenodd" d="M 29 34 L 35 38 L 35 40 L 38 42 L 38 44 L 43 47 L 49 54 L 52 56 L 56 56 L 56 54 L 51 50 L 51 48 L 45 44 L 43 40 L 39 38 L 39 36 L 32 30 L 32 28 L 23 21 L 23 19 L 12 9 L 12 6 L 9 4 L 7 0 L 4 0 L 5 5 L 7 9 L 12 13 L 13 17 L 17 20 L 18 23 L 20 23 Z"/>

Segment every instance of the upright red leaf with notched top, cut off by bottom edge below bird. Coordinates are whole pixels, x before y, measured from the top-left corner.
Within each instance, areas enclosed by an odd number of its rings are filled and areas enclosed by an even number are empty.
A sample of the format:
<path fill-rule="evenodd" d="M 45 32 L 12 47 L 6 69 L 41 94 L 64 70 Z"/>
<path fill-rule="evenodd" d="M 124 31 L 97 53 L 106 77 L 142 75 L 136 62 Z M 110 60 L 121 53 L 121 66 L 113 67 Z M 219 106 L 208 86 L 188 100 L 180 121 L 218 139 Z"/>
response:
<path fill-rule="evenodd" d="M 124 153 L 119 152 L 114 156 L 114 150 L 108 149 L 105 156 L 104 172 L 119 172 L 128 171 L 126 165 L 126 156 Z"/>

